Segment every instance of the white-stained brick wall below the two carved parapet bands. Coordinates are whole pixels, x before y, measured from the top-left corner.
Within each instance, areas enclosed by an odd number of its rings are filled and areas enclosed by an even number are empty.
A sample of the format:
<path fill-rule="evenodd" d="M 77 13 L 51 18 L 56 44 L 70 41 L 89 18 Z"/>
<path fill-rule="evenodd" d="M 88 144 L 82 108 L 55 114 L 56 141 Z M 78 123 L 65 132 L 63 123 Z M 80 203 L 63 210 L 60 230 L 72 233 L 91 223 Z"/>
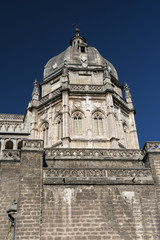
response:
<path fill-rule="evenodd" d="M 44 186 L 42 240 L 159 239 L 154 186 Z"/>

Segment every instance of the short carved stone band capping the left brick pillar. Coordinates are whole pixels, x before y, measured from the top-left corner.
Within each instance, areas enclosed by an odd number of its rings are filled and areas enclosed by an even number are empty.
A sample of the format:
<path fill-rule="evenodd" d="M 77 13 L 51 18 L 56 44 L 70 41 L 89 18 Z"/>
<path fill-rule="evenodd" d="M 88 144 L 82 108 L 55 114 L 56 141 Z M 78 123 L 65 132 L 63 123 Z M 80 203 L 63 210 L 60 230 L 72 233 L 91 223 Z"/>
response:
<path fill-rule="evenodd" d="M 43 140 L 23 140 L 22 150 L 43 150 Z"/>

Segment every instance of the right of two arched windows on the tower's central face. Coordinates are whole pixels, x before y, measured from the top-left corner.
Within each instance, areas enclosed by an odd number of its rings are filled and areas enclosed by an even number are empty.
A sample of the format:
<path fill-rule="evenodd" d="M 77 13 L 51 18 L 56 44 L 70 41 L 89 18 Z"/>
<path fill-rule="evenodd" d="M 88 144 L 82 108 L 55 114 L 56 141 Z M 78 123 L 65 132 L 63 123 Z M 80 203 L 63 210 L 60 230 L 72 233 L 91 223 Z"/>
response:
<path fill-rule="evenodd" d="M 95 113 L 93 115 L 94 120 L 94 132 L 96 136 L 103 135 L 103 117 L 101 113 Z"/>

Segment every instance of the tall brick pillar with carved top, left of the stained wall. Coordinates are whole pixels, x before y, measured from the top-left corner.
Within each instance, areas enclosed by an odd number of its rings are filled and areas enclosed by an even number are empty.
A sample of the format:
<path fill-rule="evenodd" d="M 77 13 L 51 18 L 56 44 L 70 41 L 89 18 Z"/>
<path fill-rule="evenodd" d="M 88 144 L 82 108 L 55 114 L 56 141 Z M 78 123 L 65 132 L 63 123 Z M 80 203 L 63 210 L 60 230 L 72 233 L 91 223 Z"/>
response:
<path fill-rule="evenodd" d="M 40 240 L 43 141 L 25 140 L 21 149 L 16 240 Z"/>

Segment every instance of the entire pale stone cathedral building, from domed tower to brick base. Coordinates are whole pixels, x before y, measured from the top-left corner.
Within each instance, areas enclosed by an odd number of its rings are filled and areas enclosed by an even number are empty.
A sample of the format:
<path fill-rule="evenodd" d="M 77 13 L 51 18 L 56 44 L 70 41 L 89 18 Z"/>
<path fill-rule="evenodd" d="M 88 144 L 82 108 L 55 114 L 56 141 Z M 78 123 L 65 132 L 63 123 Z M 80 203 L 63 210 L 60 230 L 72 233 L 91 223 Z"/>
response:
<path fill-rule="evenodd" d="M 139 149 L 134 114 L 75 29 L 25 115 L 0 114 L 1 239 L 160 239 L 160 143 Z"/>

